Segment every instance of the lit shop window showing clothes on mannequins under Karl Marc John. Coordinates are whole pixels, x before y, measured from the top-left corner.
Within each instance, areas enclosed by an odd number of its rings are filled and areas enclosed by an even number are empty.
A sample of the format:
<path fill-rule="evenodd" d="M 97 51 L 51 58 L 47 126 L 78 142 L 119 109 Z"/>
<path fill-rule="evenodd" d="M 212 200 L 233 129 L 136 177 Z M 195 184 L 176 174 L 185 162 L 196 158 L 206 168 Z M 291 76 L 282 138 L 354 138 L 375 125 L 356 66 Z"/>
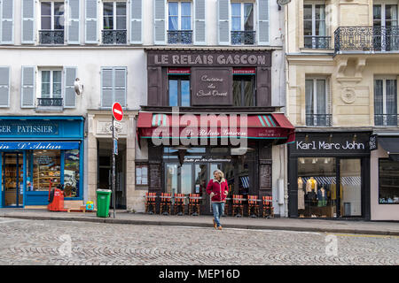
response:
<path fill-rule="evenodd" d="M 335 158 L 298 158 L 299 217 L 335 218 L 336 202 Z"/>

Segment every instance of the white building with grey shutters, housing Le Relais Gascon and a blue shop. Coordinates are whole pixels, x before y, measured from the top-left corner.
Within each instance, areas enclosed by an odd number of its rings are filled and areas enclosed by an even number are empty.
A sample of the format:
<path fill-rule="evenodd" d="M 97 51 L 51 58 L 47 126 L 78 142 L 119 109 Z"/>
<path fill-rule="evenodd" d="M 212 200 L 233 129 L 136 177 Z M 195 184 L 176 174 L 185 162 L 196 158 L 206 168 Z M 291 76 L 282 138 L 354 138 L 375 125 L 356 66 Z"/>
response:
<path fill-rule="evenodd" d="M 0 15 L 2 207 L 47 204 L 50 181 L 67 187 L 66 205 L 96 202 L 96 190 L 110 187 L 111 106 L 119 102 L 117 208 L 144 211 L 148 191 L 202 193 L 221 168 L 231 194 L 273 196 L 275 213 L 287 216 L 293 126 L 284 116 L 278 4 L 1 0 Z M 239 116 L 240 131 L 224 137 L 248 143 L 222 144 L 209 126 L 199 138 L 207 145 L 156 145 L 153 127 L 176 112 L 218 115 L 219 137 Z"/>

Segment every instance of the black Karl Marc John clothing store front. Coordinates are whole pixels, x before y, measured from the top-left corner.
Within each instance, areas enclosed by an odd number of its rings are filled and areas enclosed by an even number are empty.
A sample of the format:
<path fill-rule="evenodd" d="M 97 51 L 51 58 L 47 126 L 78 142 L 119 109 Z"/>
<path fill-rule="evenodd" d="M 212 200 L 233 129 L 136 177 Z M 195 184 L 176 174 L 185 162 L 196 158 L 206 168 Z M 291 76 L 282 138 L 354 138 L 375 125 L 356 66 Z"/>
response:
<path fill-rule="evenodd" d="M 370 219 L 370 133 L 296 133 L 289 150 L 292 218 Z"/>

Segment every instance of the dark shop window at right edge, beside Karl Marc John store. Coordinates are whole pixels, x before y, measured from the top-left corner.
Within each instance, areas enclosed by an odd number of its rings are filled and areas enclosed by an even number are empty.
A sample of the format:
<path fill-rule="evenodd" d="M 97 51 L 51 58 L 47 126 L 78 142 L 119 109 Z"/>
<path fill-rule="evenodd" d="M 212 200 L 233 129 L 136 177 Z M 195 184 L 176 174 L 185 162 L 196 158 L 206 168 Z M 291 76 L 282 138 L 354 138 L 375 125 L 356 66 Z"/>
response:
<path fill-rule="evenodd" d="M 379 159 L 379 204 L 399 204 L 399 162 Z"/>

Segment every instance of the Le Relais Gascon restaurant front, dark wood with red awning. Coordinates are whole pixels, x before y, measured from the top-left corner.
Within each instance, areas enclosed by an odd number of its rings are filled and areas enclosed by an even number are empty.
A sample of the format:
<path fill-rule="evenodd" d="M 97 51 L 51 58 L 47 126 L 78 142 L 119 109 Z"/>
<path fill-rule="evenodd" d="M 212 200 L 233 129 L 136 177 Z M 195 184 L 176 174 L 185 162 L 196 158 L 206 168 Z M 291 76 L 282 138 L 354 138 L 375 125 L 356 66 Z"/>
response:
<path fill-rule="evenodd" d="M 221 169 L 230 197 L 273 195 L 278 203 L 286 161 L 273 157 L 293 142 L 294 129 L 271 106 L 272 52 L 146 52 L 148 105 L 137 118 L 136 187 L 200 194 L 201 213 L 210 213 L 205 188 Z"/>

